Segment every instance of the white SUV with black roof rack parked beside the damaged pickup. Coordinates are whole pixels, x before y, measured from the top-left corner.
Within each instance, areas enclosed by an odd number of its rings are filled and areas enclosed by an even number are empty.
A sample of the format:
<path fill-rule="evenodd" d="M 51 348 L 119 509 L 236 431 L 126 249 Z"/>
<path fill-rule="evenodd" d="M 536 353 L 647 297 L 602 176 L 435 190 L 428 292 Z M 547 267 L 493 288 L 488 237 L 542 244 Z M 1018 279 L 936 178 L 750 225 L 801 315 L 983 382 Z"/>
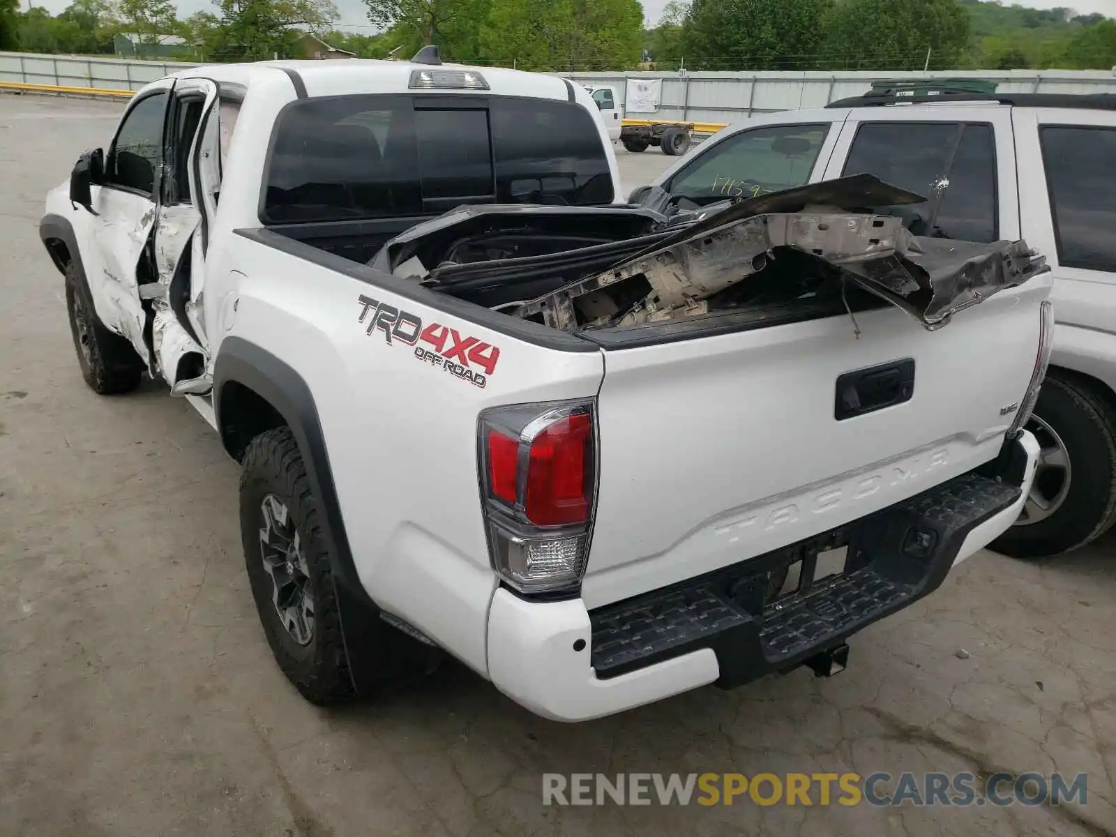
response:
<path fill-rule="evenodd" d="M 906 213 L 912 231 L 1022 237 L 1048 256 L 1057 325 L 1027 425 L 1042 454 L 1023 513 L 993 548 L 1033 558 L 1099 538 L 1116 522 L 1116 96 L 881 92 L 767 114 L 719 132 L 632 198 L 692 211 L 862 173 L 939 186 L 935 218 L 933 204 Z"/>

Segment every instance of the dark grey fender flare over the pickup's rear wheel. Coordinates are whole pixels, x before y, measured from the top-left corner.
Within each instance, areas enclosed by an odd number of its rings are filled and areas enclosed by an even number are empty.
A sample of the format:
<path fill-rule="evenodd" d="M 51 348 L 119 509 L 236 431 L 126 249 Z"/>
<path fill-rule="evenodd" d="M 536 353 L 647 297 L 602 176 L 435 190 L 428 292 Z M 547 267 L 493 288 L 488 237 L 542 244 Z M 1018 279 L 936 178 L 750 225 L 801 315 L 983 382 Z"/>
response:
<path fill-rule="evenodd" d="M 306 381 L 259 345 L 241 337 L 224 338 L 213 365 L 213 415 L 222 443 L 225 429 L 221 422 L 221 396 L 229 383 L 240 384 L 271 404 L 290 427 L 302 454 L 329 549 L 341 638 L 354 689 L 358 694 L 367 694 L 404 671 L 431 668 L 437 650 L 381 619 L 381 608 L 360 583 L 341 519 L 325 434 Z"/>

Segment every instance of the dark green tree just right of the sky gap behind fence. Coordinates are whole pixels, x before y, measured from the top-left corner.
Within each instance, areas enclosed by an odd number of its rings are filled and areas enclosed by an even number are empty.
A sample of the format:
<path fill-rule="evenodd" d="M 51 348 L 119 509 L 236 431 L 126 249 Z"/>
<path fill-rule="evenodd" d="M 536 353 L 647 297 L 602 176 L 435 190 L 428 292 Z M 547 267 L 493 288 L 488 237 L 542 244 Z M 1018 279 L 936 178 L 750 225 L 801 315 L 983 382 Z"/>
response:
<path fill-rule="evenodd" d="M 692 69 L 814 69 L 830 0 L 694 0 L 683 48 Z"/>

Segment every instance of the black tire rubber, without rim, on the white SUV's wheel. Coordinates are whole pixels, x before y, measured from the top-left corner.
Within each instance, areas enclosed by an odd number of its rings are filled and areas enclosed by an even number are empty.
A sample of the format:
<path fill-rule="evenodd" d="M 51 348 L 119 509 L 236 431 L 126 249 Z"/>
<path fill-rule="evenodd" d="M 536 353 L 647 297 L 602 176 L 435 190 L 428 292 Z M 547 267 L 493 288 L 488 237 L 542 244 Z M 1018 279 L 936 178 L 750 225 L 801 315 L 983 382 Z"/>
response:
<path fill-rule="evenodd" d="M 1012 526 L 990 547 L 1016 558 L 1068 552 L 1116 522 L 1116 410 L 1076 376 L 1055 372 L 1042 383 L 1035 415 L 1065 444 L 1069 491 L 1050 517 Z"/>

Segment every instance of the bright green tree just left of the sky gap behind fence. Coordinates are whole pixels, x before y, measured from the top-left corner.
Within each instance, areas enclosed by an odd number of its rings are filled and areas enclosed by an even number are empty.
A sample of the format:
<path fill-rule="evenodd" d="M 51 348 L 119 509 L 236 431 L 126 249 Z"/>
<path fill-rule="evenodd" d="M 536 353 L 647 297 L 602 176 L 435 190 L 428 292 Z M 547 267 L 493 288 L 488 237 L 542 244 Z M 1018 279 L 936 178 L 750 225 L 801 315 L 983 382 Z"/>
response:
<path fill-rule="evenodd" d="M 481 49 L 520 69 L 628 69 L 643 38 L 638 0 L 492 0 Z"/>

